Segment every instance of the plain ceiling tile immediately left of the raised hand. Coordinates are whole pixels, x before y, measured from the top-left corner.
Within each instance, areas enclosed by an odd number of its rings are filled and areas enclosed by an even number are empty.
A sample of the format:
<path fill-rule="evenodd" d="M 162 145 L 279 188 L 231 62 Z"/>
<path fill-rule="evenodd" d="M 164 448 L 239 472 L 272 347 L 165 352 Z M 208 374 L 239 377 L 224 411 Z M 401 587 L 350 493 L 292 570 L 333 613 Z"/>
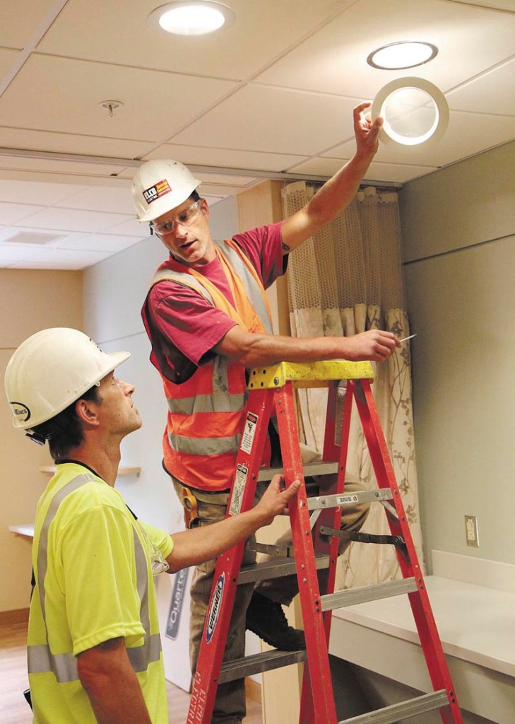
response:
<path fill-rule="evenodd" d="M 174 137 L 176 143 L 311 156 L 353 136 L 354 101 L 251 85 Z M 281 119 L 281 122 L 278 122 Z"/>

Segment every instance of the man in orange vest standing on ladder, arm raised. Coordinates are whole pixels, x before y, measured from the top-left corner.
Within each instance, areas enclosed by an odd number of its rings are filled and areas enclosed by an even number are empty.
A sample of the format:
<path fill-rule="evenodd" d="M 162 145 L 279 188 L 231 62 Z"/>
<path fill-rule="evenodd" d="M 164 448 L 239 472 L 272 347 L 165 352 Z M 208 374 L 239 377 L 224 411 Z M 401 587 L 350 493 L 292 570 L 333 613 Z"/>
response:
<path fill-rule="evenodd" d="M 314 339 L 272 334 L 265 288 L 286 270 L 287 255 L 331 222 L 352 201 L 378 148 L 381 119 L 365 117 L 370 104 L 354 109 L 357 152 L 309 203 L 289 219 L 225 242 L 213 241 L 200 182 L 176 161 L 148 161 L 132 185 L 137 218 L 150 222 L 170 252 L 142 309 L 152 343 L 151 361 L 161 373 L 169 405 L 163 465 L 187 510 L 190 526 L 224 517 L 244 420 L 245 369 L 276 361 L 345 358 L 383 362 L 399 347 L 391 332 Z M 365 519 L 367 506 L 356 515 Z M 244 563 L 252 563 L 247 553 Z M 195 669 L 212 565 L 197 568 L 192 583 L 190 656 Z M 242 657 L 245 622 L 283 649 L 302 647 L 302 632 L 286 623 L 281 602 L 239 586 L 225 660 Z M 218 687 L 213 721 L 238 724 L 245 715 L 244 683 Z"/>

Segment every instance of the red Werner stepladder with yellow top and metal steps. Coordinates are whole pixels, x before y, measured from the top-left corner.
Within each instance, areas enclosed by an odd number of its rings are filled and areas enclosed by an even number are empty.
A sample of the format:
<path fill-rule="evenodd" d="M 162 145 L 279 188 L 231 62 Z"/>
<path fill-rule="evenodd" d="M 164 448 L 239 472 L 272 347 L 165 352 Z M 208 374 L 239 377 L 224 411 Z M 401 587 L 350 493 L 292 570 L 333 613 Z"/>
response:
<path fill-rule="evenodd" d="M 244 430 L 237 454 L 237 468 L 227 515 L 252 508 L 258 479 L 271 479 L 273 471 L 260 470 L 268 421 L 276 414 L 286 485 L 307 475 L 331 474 L 332 482 L 318 497 L 307 497 L 305 486 L 289 504 L 294 557 L 281 563 L 257 564 L 240 571 L 244 543 L 218 558 L 208 615 L 205 620 L 197 671 L 192 687 L 187 724 L 208 724 L 218 683 L 252 673 L 305 661 L 299 724 L 336 724 L 336 707 L 328 660 L 331 611 L 345 605 L 407 594 L 420 644 L 434 691 L 407 702 L 393 704 L 346 720 L 349 724 L 393 724 L 429 710 L 439 710 L 443 724 L 463 724 L 446 659 L 427 597 L 422 572 L 414 550 L 404 507 L 397 487 L 386 441 L 370 389 L 373 372 L 368 362 L 327 361 L 280 363 L 252 369 L 245 409 Z M 335 443 L 336 395 L 339 381 L 347 380 L 341 445 Z M 323 460 L 302 466 L 294 387 L 329 387 Z M 344 476 L 352 401 L 357 405 L 373 463 L 378 489 L 346 495 Z M 268 472 L 268 475 L 267 475 Z M 338 472 L 336 476 L 334 473 Z M 345 505 L 380 502 L 386 512 L 391 536 L 350 534 L 362 542 L 393 544 L 403 578 L 385 584 L 334 593 L 336 556 L 341 534 L 339 522 Z M 313 511 L 310 516 L 310 511 Z M 312 531 L 313 526 L 313 531 Z M 347 534 L 349 535 L 349 534 Z M 314 543 L 313 543 L 314 541 Z M 289 551 L 291 556 L 291 551 Z M 327 593 L 320 595 L 317 568 L 328 568 Z M 229 620 L 238 582 L 272 578 L 297 571 L 306 650 L 283 652 L 273 649 L 242 660 L 222 664 Z M 314 683 L 314 686 L 312 686 Z M 344 724 L 344 723 L 341 723 Z"/>

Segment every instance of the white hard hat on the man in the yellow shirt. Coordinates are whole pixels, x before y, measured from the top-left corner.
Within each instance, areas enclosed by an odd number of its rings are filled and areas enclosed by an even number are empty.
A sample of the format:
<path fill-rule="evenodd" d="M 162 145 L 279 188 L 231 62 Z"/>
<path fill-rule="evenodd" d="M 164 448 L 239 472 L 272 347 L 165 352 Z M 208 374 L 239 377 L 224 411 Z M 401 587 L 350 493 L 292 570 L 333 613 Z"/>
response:
<path fill-rule="evenodd" d="M 5 371 L 14 427 L 31 429 L 51 420 L 128 357 L 106 354 L 78 329 L 43 329 L 22 342 Z"/>

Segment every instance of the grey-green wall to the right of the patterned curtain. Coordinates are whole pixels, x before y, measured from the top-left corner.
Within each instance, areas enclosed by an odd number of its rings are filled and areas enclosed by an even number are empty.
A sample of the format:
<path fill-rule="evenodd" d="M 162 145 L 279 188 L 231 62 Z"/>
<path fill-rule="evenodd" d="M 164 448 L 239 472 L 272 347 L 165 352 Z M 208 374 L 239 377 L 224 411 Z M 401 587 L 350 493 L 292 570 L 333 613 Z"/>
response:
<path fill-rule="evenodd" d="M 515 563 L 515 143 L 401 191 L 422 532 Z M 480 547 L 466 544 L 476 515 Z"/>

